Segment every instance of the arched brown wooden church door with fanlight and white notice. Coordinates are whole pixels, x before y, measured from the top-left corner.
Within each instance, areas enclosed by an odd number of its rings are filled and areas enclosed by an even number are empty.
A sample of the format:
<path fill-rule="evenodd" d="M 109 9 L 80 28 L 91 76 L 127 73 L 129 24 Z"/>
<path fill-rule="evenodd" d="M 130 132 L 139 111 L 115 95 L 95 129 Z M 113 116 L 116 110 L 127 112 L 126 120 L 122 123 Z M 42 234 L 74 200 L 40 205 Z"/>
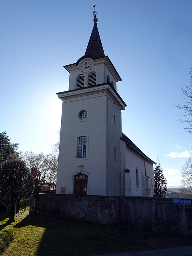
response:
<path fill-rule="evenodd" d="M 75 176 L 75 195 L 87 195 L 87 179 L 88 177 L 85 174 L 77 174 Z"/>

